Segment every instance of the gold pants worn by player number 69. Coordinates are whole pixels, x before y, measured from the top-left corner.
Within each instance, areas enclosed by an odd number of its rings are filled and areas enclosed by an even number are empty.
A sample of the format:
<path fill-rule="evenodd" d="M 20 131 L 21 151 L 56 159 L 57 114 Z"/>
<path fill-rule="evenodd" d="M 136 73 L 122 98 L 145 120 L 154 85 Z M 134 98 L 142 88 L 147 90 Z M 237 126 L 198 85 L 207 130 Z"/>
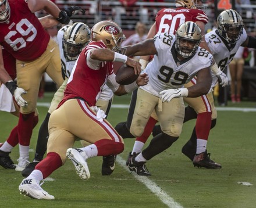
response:
<path fill-rule="evenodd" d="M 47 50 L 42 55 L 29 62 L 16 60 L 17 85 L 27 91 L 22 95 L 27 101 L 27 107 L 21 107 L 20 112 L 29 114 L 35 111 L 37 105 L 37 96 L 43 73 L 47 73 L 52 80 L 59 86 L 63 83 L 61 74 L 61 58 L 59 56 L 58 44 L 50 40 Z"/>

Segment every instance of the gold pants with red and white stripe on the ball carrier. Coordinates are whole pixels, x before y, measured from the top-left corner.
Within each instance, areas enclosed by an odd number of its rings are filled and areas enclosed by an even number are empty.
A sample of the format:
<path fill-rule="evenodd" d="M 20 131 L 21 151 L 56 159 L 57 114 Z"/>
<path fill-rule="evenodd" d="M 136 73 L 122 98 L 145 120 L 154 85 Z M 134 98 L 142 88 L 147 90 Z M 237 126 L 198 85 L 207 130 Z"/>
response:
<path fill-rule="evenodd" d="M 118 132 L 106 119 L 96 119 L 96 112 L 86 102 L 69 99 L 52 112 L 49 119 L 49 139 L 47 152 L 56 152 L 62 162 L 66 159 L 66 150 L 72 148 L 76 138 L 94 144 L 101 139 L 122 142 Z"/>

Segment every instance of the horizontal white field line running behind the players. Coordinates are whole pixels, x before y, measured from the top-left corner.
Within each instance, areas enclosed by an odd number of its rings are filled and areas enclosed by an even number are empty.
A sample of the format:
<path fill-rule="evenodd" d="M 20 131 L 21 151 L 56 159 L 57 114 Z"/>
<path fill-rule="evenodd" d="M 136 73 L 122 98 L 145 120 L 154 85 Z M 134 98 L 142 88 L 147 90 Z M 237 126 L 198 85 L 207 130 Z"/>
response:
<path fill-rule="evenodd" d="M 49 107 L 51 103 L 38 102 L 37 106 Z M 113 104 L 111 107 L 119 109 L 128 109 L 129 105 L 116 105 Z M 241 112 L 256 112 L 256 107 L 216 107 L 219 111 L 241 111 Z"/>

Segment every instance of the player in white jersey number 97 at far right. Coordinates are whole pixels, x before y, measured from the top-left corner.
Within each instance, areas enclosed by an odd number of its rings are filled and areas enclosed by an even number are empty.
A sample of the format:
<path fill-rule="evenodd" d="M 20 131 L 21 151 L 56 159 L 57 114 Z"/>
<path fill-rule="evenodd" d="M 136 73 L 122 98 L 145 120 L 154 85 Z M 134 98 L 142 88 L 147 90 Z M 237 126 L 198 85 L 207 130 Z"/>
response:
<path fill-rule="evenodd" d="M 233 60 L 234 55 L 240 46 L 247 48 L 256 48 L 256 38 L 247 35 L 244 29 L 243 19 L 238 12 L 232 9 L 224 10 L 217 18 L 217 28 L 210 31 L 205 35 L 205 40 L 215 62 L 221 70 L 224 70 L 229 63 Z M 212 87 L 218 82 L 218 78 L 213 75 Z M 212 126 L 216 124 L 217 112 L 212 99 Z M 194 110 L 190 107 L 190 112 Z M 192 114 L 192 113 L 191 113 Z M 194 113 L 195 114 L 195 113 Z M 196 116 L 194 117 L 196 119 Z M 184 145 L 183 149 L 190 149 L 191 155 L 194 155 L 196 151 L 197 141 L 195 129 L 193 131 L 194 137 Z"/>

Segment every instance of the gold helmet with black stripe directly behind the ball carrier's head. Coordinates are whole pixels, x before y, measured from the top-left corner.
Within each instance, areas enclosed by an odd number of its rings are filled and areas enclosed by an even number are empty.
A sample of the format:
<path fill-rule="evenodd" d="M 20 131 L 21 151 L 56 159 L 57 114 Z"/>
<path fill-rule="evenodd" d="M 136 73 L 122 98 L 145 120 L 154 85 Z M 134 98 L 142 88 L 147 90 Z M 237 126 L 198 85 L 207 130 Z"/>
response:
<path fill-rule="evenodd" d="M 74 23 L 67 27 L 62 39 L 63 52 L 66 60 L 76 60 L 90 40 L 91 31 L 86 24 Z"/>

